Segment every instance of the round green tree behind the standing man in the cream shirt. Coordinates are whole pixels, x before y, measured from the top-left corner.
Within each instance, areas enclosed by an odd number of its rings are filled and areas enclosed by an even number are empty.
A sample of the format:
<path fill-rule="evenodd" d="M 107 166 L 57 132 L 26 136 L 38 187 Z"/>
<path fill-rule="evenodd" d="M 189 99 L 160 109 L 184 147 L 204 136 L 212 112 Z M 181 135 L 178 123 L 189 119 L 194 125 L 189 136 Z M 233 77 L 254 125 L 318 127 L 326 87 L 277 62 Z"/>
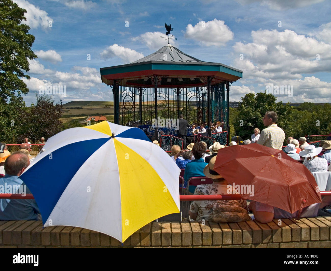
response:
<path fill-rule="evenodd" d="M 263 130 L 265 127 L 263 127 L 262 117 L 267 111 L 275 111 L 278 115 L 278 126 L 284 130 L 286 135 L 291 133 L 292 108 L 289 103 L 283 105 L 282 102 L 276 103 L 276 100 L 275 96 L 266 92 L 258 93 L 256 96 L 254 93 L 248 93 L 242 97 L 242 102 L 239 103 L 238 107 L 238 115 L 233 118 L 235 135 L 245 140 L 251 138 L 254 128 Z"/>

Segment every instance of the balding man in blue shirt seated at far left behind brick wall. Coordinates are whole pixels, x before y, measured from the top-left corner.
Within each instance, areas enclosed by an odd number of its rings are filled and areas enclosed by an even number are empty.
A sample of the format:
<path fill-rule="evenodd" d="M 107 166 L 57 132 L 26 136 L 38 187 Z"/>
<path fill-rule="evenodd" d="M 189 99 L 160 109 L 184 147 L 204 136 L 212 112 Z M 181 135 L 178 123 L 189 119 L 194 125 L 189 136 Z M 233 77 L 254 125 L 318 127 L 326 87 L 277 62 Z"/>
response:
<path fill-rule="evenodd" d="M 24 197 L 31 192 L 19 178 L 30 164 L 29 158 L 23 153 L 15 153 L 5 161 L 6 175 L 0 178 L 0 193 L 22 194 Z M 0 220 L 38 220 L 40 210 L 35 200 L 0 199 Z"/>

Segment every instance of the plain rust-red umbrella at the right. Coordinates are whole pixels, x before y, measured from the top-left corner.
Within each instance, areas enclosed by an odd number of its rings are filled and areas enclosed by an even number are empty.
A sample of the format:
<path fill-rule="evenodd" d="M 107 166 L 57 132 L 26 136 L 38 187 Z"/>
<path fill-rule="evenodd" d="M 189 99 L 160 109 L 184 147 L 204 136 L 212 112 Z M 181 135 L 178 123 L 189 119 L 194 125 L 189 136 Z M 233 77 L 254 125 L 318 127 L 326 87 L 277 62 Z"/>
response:
<path fill-rule="evenodd" d="M 214 171 L 240 188 L 237 192 L 243 199 L 290 213 L 321 202 L 315 178 L 303 164 L 283 151 L 256 143 L 223 148 L 217 154 Z"/>

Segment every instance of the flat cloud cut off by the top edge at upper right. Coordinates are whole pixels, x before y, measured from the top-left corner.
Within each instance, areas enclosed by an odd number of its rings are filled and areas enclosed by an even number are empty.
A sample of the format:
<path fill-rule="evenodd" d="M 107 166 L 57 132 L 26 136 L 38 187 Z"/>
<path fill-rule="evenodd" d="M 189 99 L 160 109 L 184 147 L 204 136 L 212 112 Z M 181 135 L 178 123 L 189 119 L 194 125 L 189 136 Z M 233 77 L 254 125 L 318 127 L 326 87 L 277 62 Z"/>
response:
<path fill-rule="evenodd" d="M 236 0 L 242 5 L 260 2 L 261 6 L 269 6 L 272 10 L 286 10 L 292 8 L 302 8 L 312 4 L 321 3 L 324 0 Z"/>

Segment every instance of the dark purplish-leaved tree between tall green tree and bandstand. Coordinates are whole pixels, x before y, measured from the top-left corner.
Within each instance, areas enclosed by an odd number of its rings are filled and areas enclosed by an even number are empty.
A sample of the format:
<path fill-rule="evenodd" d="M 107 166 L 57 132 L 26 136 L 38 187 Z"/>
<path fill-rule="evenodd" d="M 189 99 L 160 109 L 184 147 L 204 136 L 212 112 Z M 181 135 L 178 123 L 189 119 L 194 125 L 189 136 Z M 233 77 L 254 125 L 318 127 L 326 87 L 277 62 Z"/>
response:
<path fill-rule="evenodd" d="M 25 115 L 21 115 L 24 126 L 18 137 L 19 141 L 25 137 L 31 139 L 31 143 L 37 142 L 41 137 L 47 141 L 48 138 L 63 130 L 63 123 L 60 120 L 62 101 L 54 105 L 53 96 L 38 96 L 36 93 L 36 104 L 31 105 L 24 113 Z"/>

